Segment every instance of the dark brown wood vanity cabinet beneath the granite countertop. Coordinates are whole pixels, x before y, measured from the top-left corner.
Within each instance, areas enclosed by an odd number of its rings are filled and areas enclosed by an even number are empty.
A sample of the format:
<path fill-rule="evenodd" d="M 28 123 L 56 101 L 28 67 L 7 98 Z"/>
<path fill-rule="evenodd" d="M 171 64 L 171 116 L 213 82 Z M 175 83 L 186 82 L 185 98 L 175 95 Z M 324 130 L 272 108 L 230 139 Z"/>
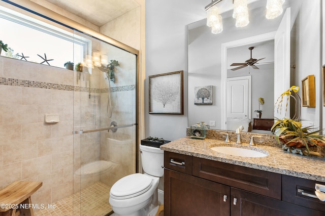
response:
<path fill-rule="evenodd" d="M 164 165 L 165 216 L 325 215 L 323 207 L 284 194 L 296 188 L 283 185 L 292 177 L 168 151 Z"/>

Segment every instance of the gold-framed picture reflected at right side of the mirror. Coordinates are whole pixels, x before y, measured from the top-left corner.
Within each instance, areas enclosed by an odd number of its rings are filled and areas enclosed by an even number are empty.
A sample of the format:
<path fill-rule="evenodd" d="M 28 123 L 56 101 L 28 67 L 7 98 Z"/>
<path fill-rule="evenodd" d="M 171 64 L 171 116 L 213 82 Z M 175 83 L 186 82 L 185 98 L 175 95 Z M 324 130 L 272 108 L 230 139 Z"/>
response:
<path fill-rule="evenodd" d="M 316 107 L 315 100 L 315 75 L 308 75 L 301 80 L 303 107 Z"/>

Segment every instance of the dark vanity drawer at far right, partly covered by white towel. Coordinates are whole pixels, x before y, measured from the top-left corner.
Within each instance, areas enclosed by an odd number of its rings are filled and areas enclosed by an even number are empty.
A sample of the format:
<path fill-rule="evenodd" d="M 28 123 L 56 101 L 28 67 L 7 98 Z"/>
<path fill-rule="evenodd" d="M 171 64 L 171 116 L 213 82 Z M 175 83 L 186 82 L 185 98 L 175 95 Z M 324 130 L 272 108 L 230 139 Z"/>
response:
<path fill-rule="evenodd" d="M 325 202 L 311 197 L 316 196 L 316 183 L 325 185 L 323 182 L 282 175 L 282 200 L 325 212 Z"/>

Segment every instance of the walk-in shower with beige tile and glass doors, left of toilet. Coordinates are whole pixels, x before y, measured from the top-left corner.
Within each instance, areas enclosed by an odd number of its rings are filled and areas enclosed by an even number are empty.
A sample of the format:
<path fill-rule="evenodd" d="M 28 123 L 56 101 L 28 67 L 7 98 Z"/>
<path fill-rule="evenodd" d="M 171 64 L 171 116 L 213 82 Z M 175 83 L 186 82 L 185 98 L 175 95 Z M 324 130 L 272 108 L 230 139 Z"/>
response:
<path fill-rule="evenodd" d="M 42 181 L 32 202 L 56 208 L 36 215 L 109 214 L 110 187 L 137 171 L 138 51 L 34 3 L 7 2 L 0 7 L 62 28 L 55 34 L 71 46 L 59 50 L 75 67 L 0 57 L 0 189 Z"/>

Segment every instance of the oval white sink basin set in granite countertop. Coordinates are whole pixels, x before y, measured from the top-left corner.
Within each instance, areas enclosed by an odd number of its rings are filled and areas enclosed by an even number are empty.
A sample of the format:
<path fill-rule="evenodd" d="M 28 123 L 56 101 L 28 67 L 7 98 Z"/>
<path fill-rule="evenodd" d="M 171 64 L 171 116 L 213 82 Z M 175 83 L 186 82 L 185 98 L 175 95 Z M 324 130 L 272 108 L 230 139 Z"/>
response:
<path fill-rule="evenodd" d="M 223 154 L 230 154 L 234 156 L 241 156 L 241 157 L 266 157 L 268 154 L 263 152 L 255 151 L 252 149 L 245 149 L 245 148 L 238 148 L 233 146 L 215 146 L 211 147 L 211 150 L 223 153 Z"/>

